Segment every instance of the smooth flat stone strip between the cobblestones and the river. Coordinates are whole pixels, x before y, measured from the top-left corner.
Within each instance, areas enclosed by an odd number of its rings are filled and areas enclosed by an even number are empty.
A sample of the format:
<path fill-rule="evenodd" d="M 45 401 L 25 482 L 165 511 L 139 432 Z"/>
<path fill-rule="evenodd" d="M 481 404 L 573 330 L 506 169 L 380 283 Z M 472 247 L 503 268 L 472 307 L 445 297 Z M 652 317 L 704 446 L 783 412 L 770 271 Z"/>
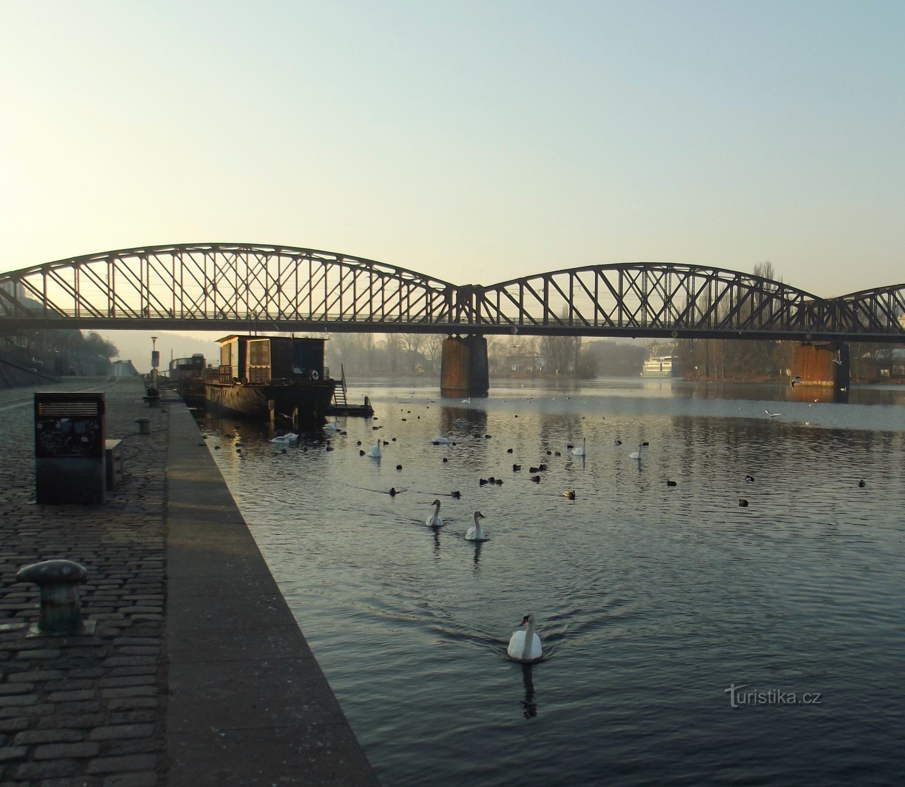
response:
<path fill-rule="evenodd" d="M 167 784 L 378 787 L 191 412 L 168 406 Z"/>

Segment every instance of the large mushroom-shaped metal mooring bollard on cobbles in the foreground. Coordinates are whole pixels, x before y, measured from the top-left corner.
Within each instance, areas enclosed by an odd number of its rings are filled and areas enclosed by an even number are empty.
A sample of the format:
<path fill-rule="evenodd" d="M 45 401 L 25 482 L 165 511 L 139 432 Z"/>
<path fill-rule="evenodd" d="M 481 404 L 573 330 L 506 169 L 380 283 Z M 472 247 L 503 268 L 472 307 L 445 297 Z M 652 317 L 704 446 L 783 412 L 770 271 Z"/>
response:
<path fill-rule="evenodd" d="M 18 582 L 41 588 L 41 616 L 32 627 L 37 634 L 82 634 L 94 629 L 95 621 L 81 620 L 78 585 L 88 579 L 83 565 L 71 560 L 44 560 L 24 565 L 15 574 Z"/>

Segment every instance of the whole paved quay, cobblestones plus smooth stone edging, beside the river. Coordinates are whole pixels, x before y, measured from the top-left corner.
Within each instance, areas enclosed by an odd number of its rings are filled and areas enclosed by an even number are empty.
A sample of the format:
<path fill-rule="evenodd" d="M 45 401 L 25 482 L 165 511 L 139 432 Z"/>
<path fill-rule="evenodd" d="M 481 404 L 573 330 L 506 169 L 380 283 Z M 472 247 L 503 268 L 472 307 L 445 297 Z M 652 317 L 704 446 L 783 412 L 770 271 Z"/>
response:
<path fill-rule="evenodd" d="M 36 618 L 14 574 L 52 558 L 86 567 L 97 621 L 0 632 L 0 784 L 376 784 L 185 406 L 148 408 L 135 378 L 41 388 L 77 389 L 104 391 L 124 440 L 102 507 L 33 503 L 35 389 L 0 392 L 0 623 Z"/>

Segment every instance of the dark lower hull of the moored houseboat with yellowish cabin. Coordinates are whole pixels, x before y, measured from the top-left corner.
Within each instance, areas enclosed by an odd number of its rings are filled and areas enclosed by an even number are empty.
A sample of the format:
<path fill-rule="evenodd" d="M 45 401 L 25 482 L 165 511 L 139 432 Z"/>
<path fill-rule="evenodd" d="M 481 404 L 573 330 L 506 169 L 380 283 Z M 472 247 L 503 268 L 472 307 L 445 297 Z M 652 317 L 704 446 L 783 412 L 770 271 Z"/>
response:
<path fill-rule="evenodd" d="M 298 410 L 299 422 L 316 423 L 327 414 L 335 388 L 333 380 L 287 385 L 205 383 L 205 399 L 216 412 L 264 420 L 270 418 L 272 402 L 274 410 L 286 418 Z"/>

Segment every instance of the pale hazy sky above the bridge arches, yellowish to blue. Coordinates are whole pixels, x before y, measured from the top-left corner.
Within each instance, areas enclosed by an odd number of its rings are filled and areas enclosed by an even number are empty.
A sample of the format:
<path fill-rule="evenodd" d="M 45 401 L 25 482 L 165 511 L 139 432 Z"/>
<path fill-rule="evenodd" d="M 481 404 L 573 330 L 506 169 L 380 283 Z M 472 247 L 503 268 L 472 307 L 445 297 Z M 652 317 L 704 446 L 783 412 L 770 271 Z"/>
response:
<path fill-rule="evenodd" d="M 900 283 L 903 41 L 899 0 L 0 0 L 0 270 L 222 241 Z"/>

